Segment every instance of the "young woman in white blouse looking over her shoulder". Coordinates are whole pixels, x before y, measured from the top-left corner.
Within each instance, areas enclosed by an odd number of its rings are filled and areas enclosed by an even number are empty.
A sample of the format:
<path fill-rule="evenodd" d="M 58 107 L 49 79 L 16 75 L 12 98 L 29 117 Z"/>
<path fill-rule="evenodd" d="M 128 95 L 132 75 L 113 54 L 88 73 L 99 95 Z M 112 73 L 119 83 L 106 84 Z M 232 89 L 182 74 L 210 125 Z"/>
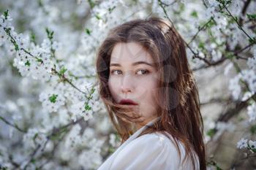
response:
<path fill-rule="evenodd" d="M 122 139 L 98 170 L 206 169 L 197 86 L 170 22 L 151 17 L 112 28 L 96 67 L 99 95 Z"/>

